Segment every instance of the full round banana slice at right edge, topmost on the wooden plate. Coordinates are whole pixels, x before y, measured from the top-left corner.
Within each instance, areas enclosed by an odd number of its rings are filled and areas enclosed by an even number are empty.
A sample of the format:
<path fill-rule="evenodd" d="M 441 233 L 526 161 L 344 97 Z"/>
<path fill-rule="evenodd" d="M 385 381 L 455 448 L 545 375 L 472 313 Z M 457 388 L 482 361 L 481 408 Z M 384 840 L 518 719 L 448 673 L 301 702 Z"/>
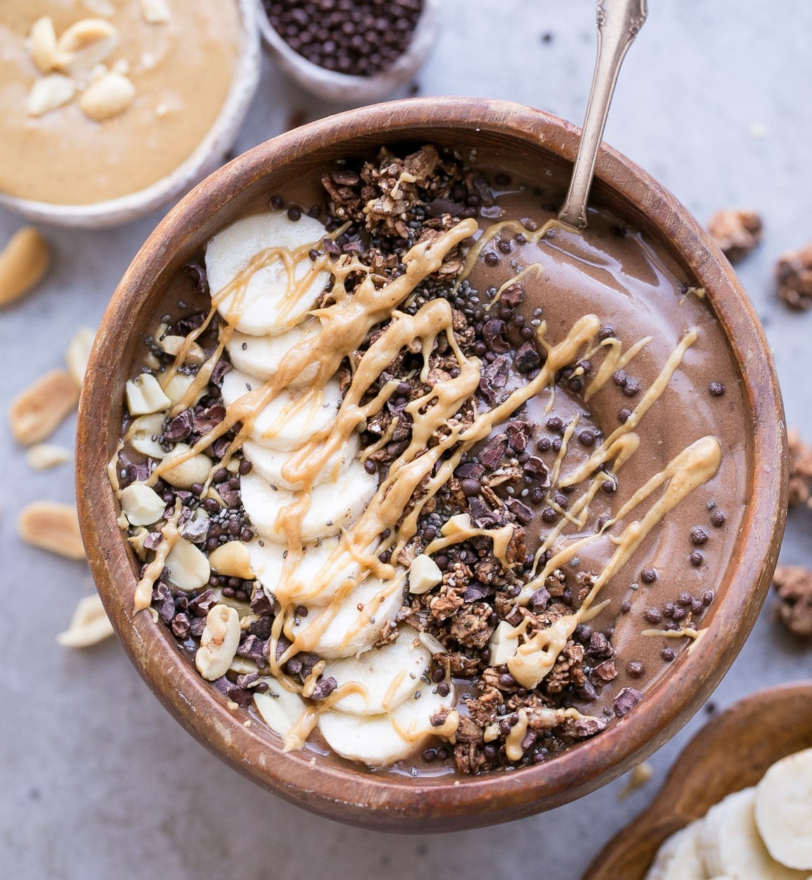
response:
<path fill-rule="evenodd" d="M 756 787 L 756 825 L 773 859 L 812 869 L 812 749 L 766 772 Z"/>

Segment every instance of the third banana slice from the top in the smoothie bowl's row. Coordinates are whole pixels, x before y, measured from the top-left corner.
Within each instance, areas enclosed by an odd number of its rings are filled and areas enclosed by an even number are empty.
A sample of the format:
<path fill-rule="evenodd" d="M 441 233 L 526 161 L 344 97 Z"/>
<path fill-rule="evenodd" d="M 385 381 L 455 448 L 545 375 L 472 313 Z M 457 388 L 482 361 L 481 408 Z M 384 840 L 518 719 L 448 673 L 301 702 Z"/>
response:
<path fill-rule="evenodd" d="M 231 370 L 222 381 L 222 399 L 227 407 L 249 392 L 262 387 L 259 379 Z M 341 389 L 332 379 L 321 389 L 288 391 L 283 389 L 254 415 L 251 438 L 269 449 L 295 451 L 317 431 L 330 427 L 341 404 Z"/>

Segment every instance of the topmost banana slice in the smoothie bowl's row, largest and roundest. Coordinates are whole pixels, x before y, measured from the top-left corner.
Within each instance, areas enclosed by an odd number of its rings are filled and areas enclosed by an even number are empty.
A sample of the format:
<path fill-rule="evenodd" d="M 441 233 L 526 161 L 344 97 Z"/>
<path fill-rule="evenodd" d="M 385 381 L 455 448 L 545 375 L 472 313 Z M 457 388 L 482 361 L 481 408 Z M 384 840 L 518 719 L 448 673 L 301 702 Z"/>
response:
<path fill-rule="evenodd" d="M 285 214 L 257 214 L 238 220 L 212 238 L 206 248 L 206 270 L 214 300 L 269 248 L 297 251 L 300 259 L 286 267 L 279 255 L 257 269 L 244 288 L 223 297 L 218 311 L 241 333 L 279 334 L 298 324 L 313 308 L 330 274 L 315 268 L 308 249 L 321 244 L 325 229 L 313 217 L 294 223 Z"/>

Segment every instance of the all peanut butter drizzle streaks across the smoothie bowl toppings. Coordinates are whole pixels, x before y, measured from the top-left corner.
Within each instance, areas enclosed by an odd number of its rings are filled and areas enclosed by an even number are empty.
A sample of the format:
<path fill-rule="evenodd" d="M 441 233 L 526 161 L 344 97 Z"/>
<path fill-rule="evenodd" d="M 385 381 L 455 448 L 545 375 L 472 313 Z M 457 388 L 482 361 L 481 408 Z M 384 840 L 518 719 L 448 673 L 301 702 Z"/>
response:
<path fill-rule="evenodd" d="M 526 238 L 540 238 L 544 231 L 555 224 L 556 221 L 550 221 L 538 233 L 531 233 L 521 224 L 513 222 L 494 224 L 470 248 L 461 277 L 468 274 L 487 241 L 496 236 L 503 226 L 516 226 L 517 229 L 523 231 Z M 381 289 L 375 288 L 369 269 L 356 258 L 344 257 L 335 264 L 328 264 L 327 258 L 324 256 L 315 260 L 310 272 L 317 273 L 329 266 L 335 278 L 328 304 L 314 312 L 321 322 L 321 333 L 291 348 L 276 375 L 269 379 L 265 385 L 236 400 L 228 407 L 223 422 L 186 452 L 191 457 L 205 449 L 216 437 L 227 432 L 237 422 L 241 422 L 242 428 L 239 434 L 229 447 L 226 457 L 217 466 L 227 465 L 228 458 L 239 450 L 243 440 L 249 435 L 257 414 L 288 385 L 292 378 L 309 364 L 318 363 L 318 372 L 310 393 L 317 392 L 334 375 L 344 356 L 359 348 L 373 326 L 383 320 L 391 319 L 384 332 L 370 345 L 360 359 L 353 374 L 352 383 L 344 394 L 344 400 L 337 412 L 336 419 L 328 428 L 315 434 L 301 450 L 295 452 L 283 469 L 286 480 L 292 482 L 301 480 L 304 486 L 300 499 L 279 514 L 287 535 L 288 554 L 276 595 L 281 608 L 272 625 L 269 663 L 273 676 L 278 678 L 279 683 L 289 690 L 301 693 L 301 685 L 284 673 L 283 667 L 286 661 L 294 654 L 310 649 L 317 642 L 323 630 L 329 626 L 333 616 L 338 612 L 344 598 L 362 579 L 370 573 L 380 577 L 386 584 L 384 588 L 386 595 L 390 594 L 392 590 L 402 589 L 406 571 L 396 564 L 397 555 L 416 533 L 417 520 L 425 502 L 451 477 L 454 468 L 460 463 L 465 452 L 489 436 L 497 424 L 504 422 L 527 400 L 545 389 L 553 388 L 556 373 L 567 364 L 574 363 L 579 358 L 603 352 L 605 363 L 609 363 L 611 369 L 599 369 L 597 375 L 591 378 L 587 388 L 588 393 L 593 394 L 600 390 L 613 370 L 617 370 L 620 366 L 631 361 L 650 340 L 650 337 L 643 338 L 626 351 L 623 350 L 617 339 L 597 341 L 600 321 L 594 314 L 586 314 L 575 320 L 561 341 L 552 344 L 547 341 L 547 325 L 542 321 L 537 327 L 536 335 L 540 346 L 545 348 L 547 357 L 538 374 L 527 381 L 525 385 L 513 390 L 505 400 L 492 409 L 482 413 L 477 413 L 475 410 L 473 422 L 466 424 L 460 421 L 455 414 L 459 413 L 460 406 L 474 395 L 481 373 L 479 360 L 465 356 L 454 339 L 451 305 L 443 298 L 430 300 L 421 306 L 414 315 L 398 312 L 397 308 L 428 275 L 439 268 L 447 253 L 450 253 L 466 238 L 473 236 L 475 231 L 477 231 L 475 221 L 464 220 L 431 242 L 423 242 L 413 246 L 403 258 L 405 273 Z M 189 406 L 199 390 L 207 384 L 211 370 L 214 369 L 214 364 L 217 363 L 221 350 L 236 325 L 239 301 L 250 276 L 272 260 L 284 260 L 288 276 L 287 296 L 293 302 L 298 297 L 301 285 L 307 285 L 312 279 L 312 275 L 306 275 L 297 281 L 294 273 L 294 267 L 301 259 L 302 254 L 308 252 L 309 247 L 305 246 L 297 251 L 285 253 L 282 252 L 282 249 L 274 248 L 255 255 L 248 268 L 243 270 L 226 289 L 214 295 L 208 319 L 186 337 L 178 349 L 175 363 L 170 369 L 164 371 L 161 378 L 162 384 L 165 386 L 175 375 L 178 367 L 184 363 L 187 350 L 191 348 L 199 335 L 205 332 L 214 317 L 217 305 L 225 297 L 233 294 L 234 304 L 227 316 L 226 326 L 221 328 L 220 345 L 208 358 L 207 363 L 201 366 L 198 376 L 187 390 L 184 400 L 181 400 L 173 408 L 173 413 Z M 360 274 L 362 281 L 350 292 L 347 290 L 345 282 L 352 274 Z M 347 442 L 352 432 L 364 424 L 367 418 L 379 412 L 388 397 L 395 392 L 396 383 L 388 383 L 381 388 L 373 400 L 364 405 L 360 402 L 365 398 L 366 392 L 388 363 L 391 363 L 404 346 L 418 342 L 424 353 L 424 373 L 427 373 L 428 356 L 434 342 L 441 334 L 446 335 L 449 345 L 457 357 L 459 375 L 440 385 L 435 385 L 423 397 L 411 401 L 408 405 L 407 411 L 413 420 L 408 448 L 392 463 L 388 476 L 382 481 L 365 512 L 342 534 L 328 561 L 312 577 L 308 595 L 302 597 L 301 593 L 297 594 L 297 601 L 306 604 L 308 600 L 323 596 L 324 593 L 331 590 L 330 581 L 334 581 L 335 572 L 344 570 L 352 563 L 360 563 L 361 572 L 358 576 L 345 579 L 345 583 L 330 598 L 327 613 L 314 622 L 313 626 L 296 634 L 293 629 L 294 608 L 290 606 L 290 603 L 286 603 L 284 587 L 281 585 L 286 582 L 289 576 L 293 575 L 295 568 L 301 562 L 303 553 L 301 522 L 308 511 L 311 500 L 310 491 L 316 475 L 330 457 Z M 584 494 L 569 505 L 569 512 L 564 517 L 564 521 L 583 524 L 590 502 L 598 490 L 599 482 L 605 479 L 605 474 L 600 472 L 600 468 L 611 462 L 614 471 L 617 471 L 628 458 L 634 455 L 640 443 L 639 436 L 634 433 L 634 429 L 649 407 L 662 395 L 674 371 L 682 362 L 685 351 L 696 341 L 698 335 L 699 331 L 696 329 L 685 331 L 678 346 L 664 364 L 659 377 L 642 395 L 642 399 L 627 422 L 607 436 L 584 464 L 562 481 L 562 485 L 566 483 L 573 486 L 588 481 Z M 293 417 L 294 413 L 290 415 Z M 439 431 L 439 429 L 441 430 Z M 432 436 L 435 439 L 438 439 L 439 436 L 439 439 L 436 444 L 429 446 L 429 440 Z M 386 439 L 383 439 L 382 442 L 386 442 Z M 178 460 L 182 460 L 182 457 Z M 563 549 L 556 549 L 552 558 L 547 561 L 539 574 L 535 574 L 534 569 L 533 580 L 522 590 L 521 599 L 524 601 L 529 598 L 533 590 L 544 583 L 553 568 L 562 565 L 564 561 L 576 554 L 579 546 L 602 536 L 611 524 L 620 521 L 664 486 L 662 495 L 651 504 L 649 510 L 639 520 L 626 524 L 620 537 L 612 538 L 617 548 L 605 561 L 604 567 L 592 584 L 588 597 L 577 612 L 557 620 L 551 627 L 534 634 L 532 638 L 527 637 L 522 625 L 516 628 L 515 632 L 519 635 L 520 641 L 516 654 L 508 661 L 508 668 L 520 685 L 534 687 L 540 683 L 552 669 L 555 660 L 578 622 L 587 620 L 591 612 L 595 612 L 596 606 L 593 603 L 605 583 L 631 558 L 643 539 L 656 524 L 663 520 L 669 510 L 672 510 L 687 495 L 690 495 L 695 488 L 703 485 L 714 476 L 720 462 L 721 447 L 719 442 L 713 436 L 700 438 L 673 458 L 660 473 L 637 489 L 626 504 L 596 535 L 576 539 L 571 541 L 568 546 L 564 546 Z M 154 484 L 158 480 L 162 468 L 163 465 L 158 463 L 148 480 L 149 484 Z M 211 474 L 207 480 L 206 488 L 210 480 Z M 416 500 L 415 491 L 418 485 L 421 486 L 422 494 Z M 404 516 L 403 511 L 407 510 L 410 504 L 411 509 Z M 468 539 L 474 533 L 483 533 L 482 530 L 473 529 L 469 523 L 460 522 L 458 526 L 451 532 L 447 530 L 443 532 L 442 536 L 428 548 L 429 551 L 436 552 L 440 546 L 447 546 L 454 540 L 461 541 Z M 166 530 L 164 537 L 167 539 L 165 544 L 170 544 L 175 531 L 174 523 L 170 522 L 164 528 Z M 509 527 L 504 527 L 490 531 L 490 537 L 494 539 L 494 552 L 500 559 L 505 557 L 510 541 L 508 529 Z M 388 537 L 381 539 L 381 534 L 384 533 L 388 533 Z M 560 533 L 561 526 L 550 530 L 550 534 L 537 554 L 537 566 Z M 377 541 L 380 543 L 376 545 Z M 379 560 L 378 554 L 381 554 L 381 550 L 390 551 L 392 564 L 382 563 Z M 165 556 L 165 554 L 163 555 Z M 161 556 L 160 550 L 158 556 Z M 506 558 L 504 561 L 510 562 Z M 150 582 L 160 572 L 159 564 L 163 567 L 163 559 L 160 562 L 156 559 L 156 563 L 148 568 L 142 578 L 136 593 L 136 608 L 149 606 L 148 590 L 151 590 Z M 277 643 L 282 634 L 285 634 L 291 644 L 277 656 Z M 323 701 L 322 707 L 329 707 L 345 693 L 356 690 L 357 687 L 352 682 L 339 686 L 327 700 Z M 304 744 L 308 733 L 315 725 L 317 711 L 312 707 L 308 708 L 295 726 L 293 735 L 286 738 L 286 748 L 299 748 Z M 551 719 L 553 719 L 554 713 L 558 713 L 556 718 L 561 717 L 561 713 L 564 713 L 565 717 L 582 717 L 575 709 L 550 710 L 550 713 Z M 433 729 L 431 732 L 446 738 L 453 737 L 458 721 L 456 713 L 452 713 L 446 719 L 446 724 L 443 727 Z M 518 749 L 520 749 L 519 735 L 522 739 L 526 735 L 526 723 L 524 726 L 519 723 L 514 727 L 514 731 L 515 733 L 511 732 L 512 738 L 509 740 L 508 746 L 509 748 L 511 748 L 511 744 L 515 746 L 512 751 L 518 754 Z M 407 732 L 410 736 L 413 735 L 417 738 L 425 731 L 403 731 L 403 734 L 405 735 Z M 514 740 L 517 742 L 513 742 Z M 510 754 L 509 757 L 511 757 Z"/>

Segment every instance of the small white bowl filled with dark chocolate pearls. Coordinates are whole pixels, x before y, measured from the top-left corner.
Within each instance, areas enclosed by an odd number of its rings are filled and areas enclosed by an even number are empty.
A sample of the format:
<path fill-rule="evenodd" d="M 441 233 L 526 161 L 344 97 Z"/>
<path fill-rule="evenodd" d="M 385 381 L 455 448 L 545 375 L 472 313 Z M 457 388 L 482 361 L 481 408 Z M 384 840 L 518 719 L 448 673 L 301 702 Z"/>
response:
<path fill-rule="evenodd" d="M 316 97 L 364 104 L 395 92 L 425 62 L 439 0 L 262 0 L 274 62 Z"/>

